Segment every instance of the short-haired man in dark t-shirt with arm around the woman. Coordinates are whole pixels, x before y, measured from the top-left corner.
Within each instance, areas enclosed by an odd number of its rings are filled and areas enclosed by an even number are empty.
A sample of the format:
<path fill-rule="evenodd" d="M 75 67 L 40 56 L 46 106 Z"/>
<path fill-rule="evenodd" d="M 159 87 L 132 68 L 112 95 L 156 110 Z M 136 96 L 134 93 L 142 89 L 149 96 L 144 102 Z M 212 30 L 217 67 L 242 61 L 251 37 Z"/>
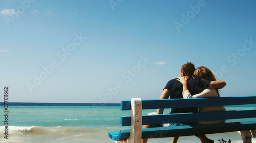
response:
<path fill-rule="evenodd" d="M 195 71 L 195 66 L 193 63 L 186 63 L 181 67 L 180 76 L 187 78 L 188 90 L 192 95 L 202 92 L 204 89 L 213 88 L 213 89 L 222 89 L 225 87 L 225 81 L 208 81 L 208 80 L 197 80 L 191 78 Z M 177 78 L 169 80 L 163 89 L 163 92 L 159 99 L 178 99 L 183 98 L 182 96 L 182 83 L 180 83 Z M 157 114 L 162 114 L 164 109 L 158 109 Z M 170 113 L 184 113 L 184 112 L 197 112 L 198 108 L 172 108 Z M 191 123 L 185 123 L 187 125 Z M 151 126 L 144 125 L 144 128 Z M 176 143 L 179 137 L 173 137 L 172 143 Z M 145 143 L 147 138 L 142 139 L 142 142 Z M 212 140 L 213 141 L 213 140 Z M 208 142 L 211 142 L 210 139 Z"/>

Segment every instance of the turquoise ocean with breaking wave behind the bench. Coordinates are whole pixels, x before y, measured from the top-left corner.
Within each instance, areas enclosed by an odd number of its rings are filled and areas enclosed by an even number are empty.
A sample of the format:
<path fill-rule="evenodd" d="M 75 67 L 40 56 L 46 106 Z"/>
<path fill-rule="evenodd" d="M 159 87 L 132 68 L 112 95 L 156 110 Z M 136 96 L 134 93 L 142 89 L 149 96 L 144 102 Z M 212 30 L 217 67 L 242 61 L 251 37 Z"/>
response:
<path fill-rule="evenodd" d="M 245 107 L 255 108 L 250 105 L 226 108 L 237 110 Z M 152 111 L 156 110 L 146 110 L 143 115 Z M 109 138 L 108 132 L 129 129 L 120 126 L 120 116 L 129 116 L 130 111 L 121 111 L 119 104 L 9 103 L 8 110 L 5 110 L 2 103 L 0 112 L 3 114 L 0 117 L 0 142 L 108 143 L 115 142 Z M 169 110 L 165 109 L 164 113 L 168 112 Z M 7 118 L 6 113 L 8 113 Z M 8 134 L 5 134 L 5 123 L 8 123 Z M 230 139 L 232 143 L 242 142 L 238 132 L 210 134 L 207 137 L 215 142 L 219 142 L 221 138 L 226 141 Z M 170 140 L 171 138 L 158 138 L 149 139 L 148 142 L 170 142 Z M 200 142 L 200 140 L 196 136 L 185 136 L 180 137 L 178 142 Z M 256 142 L 254 138 L 253 142 Z"/>

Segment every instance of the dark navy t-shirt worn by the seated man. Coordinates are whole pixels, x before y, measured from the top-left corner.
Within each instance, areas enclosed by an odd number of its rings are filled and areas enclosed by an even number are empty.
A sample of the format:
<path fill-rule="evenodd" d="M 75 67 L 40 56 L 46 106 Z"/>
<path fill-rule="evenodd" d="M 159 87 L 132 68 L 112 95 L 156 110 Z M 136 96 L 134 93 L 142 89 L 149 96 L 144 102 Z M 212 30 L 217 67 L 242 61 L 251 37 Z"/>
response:
<path fill-rule="evenodd" d="M 204 89 L 207 89 L 210 85 L 210 81 L 208 80 L 198 80 L 193 78 L 187 79 L 187 88 L 191 95 L 195 95 L 201 93 Z M 183 98 L 182 89 L 183 85 L 177 78 L 169 80 L 165 85 L 165 88 L 170 91 L 171 99 Z M 196 108 L 172 108 L 170 113 L 182 113 L 182 112 L 197 112 L 198 107 Z"/>

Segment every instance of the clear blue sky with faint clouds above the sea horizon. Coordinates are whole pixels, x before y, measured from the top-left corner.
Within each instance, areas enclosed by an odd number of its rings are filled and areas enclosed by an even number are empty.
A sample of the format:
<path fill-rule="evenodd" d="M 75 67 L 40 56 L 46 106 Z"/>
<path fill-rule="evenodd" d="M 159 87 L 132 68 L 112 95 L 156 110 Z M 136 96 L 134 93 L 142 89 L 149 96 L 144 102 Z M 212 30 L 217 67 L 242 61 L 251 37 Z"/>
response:
<path fill-rule="evenodd" d="M 256 1 L 0 1 L 0 102 L 159 99 L 186 62 L 256 93 Z"/>

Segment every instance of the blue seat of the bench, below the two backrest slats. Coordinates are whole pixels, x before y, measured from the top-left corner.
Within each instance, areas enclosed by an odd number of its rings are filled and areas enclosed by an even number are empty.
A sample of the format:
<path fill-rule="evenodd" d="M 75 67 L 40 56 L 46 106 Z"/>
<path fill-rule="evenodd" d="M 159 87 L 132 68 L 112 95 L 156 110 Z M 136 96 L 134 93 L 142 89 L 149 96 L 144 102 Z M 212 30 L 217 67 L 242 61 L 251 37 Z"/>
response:
<path fill-rule="evenodd" d="M 173 136 L 187 136 L 197 134 L 223 133 L 231 131 L 251 130 L 256 128 L 256 121 L 233 122 L 224 124 L 203 124 L 176 127 L 158 127 L 142 129 L 142 138 L 159 138 Z M 130 130 L 120 130 L 120 132 L 109 132 L 113 140 L 125 139 L 130 136 Z"/>

